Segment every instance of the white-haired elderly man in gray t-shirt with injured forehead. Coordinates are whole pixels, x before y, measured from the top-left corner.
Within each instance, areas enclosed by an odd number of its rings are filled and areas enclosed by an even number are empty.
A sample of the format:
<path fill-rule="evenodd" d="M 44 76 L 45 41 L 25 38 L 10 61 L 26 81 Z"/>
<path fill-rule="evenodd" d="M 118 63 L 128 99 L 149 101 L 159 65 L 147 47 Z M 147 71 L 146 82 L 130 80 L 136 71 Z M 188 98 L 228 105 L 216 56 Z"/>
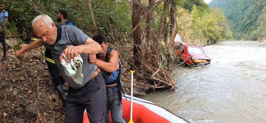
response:
<path fill-rule="evenodd" d="M 103 77 L 96 65 L 89 62 L 88 57 L 101 52 L 101 46 L 75 26 L 58 26 L 48 15 L 39 15 L 32 21 L 34 34 L 41 40 L 30 43 L 16 52 L 22 57 L 28 50 L 45 46 L 50 48 L 54 62 L 62 77 L 69 84 L 66 102 L 66 123 L 82 123 L 83 113 L 87 109 L 91 123 L 104 123 L 106 108 L 106 90 Z M 83 59 L 83 83 L 78 84 L 64 72 L 59 62 L 61 54 L 70 60 L 80 54 Z"/>

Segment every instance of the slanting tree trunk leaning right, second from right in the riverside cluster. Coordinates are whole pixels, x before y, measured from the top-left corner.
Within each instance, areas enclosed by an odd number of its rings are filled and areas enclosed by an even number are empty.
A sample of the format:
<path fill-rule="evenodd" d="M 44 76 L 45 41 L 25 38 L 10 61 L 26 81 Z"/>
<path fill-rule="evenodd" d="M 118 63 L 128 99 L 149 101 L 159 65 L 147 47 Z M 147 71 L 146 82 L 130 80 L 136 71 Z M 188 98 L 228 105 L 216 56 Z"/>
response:
<path fill-rule="evenodd" d="M 164 26 L 164 20 L 166 18 L 167 10 L 169 9 L 169 0 L 164 0 L 164 7 L 163 7 L 163 14 L 161 17 L 161 22 L 158 28 L 158 39 L 161 40 L 162 32 L 163 32 L 163 26 Z"/>

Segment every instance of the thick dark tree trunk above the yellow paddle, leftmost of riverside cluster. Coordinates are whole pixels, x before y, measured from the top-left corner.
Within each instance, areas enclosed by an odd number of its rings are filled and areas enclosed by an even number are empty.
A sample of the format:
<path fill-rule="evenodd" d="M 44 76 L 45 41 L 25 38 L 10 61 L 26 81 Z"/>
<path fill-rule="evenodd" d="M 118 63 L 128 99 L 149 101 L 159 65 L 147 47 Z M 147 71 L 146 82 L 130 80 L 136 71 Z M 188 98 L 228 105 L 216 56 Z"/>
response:
<path fill-rule="evenodd" d="M 142 44 L 142 38 L 141 38 L 141 28 L 140 28 L 140 14 L 141 14 L 141 6 L 140 6 L 140 0 L 133 0 L 133 7 L 132 7 L 132 29 L 134 29 L 136 26 L 136 30 L 133 31 L 133 40 L 134 40 L 134 49 L 133 49 L 133 55 L 135 57 L 134 59 L 134 65 L 136 68 L 139 68 L 140 66 L 140 58 L 141 58 L 141 49 L 140 45 Z"/>

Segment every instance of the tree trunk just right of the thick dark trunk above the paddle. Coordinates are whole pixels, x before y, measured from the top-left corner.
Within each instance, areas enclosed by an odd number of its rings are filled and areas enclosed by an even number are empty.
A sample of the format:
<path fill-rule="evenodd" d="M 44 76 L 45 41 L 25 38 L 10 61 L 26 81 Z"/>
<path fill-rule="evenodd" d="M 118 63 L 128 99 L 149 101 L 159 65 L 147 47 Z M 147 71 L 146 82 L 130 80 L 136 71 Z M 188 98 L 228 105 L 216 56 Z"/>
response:
<path fill-rule="evenodd" d="M 154 0 L 149 0 L 149 7 L 147 8 L 147 12 L 151 11 L 151 9 L 153 8 L 152 4 L 154 3 Z M 152 12 L 150 12 L 150 14 L 147 15 L 147 22 L 146 22 L 146 40 L 147 42 L 149 42 L 151 40 L 151 25 L 152 25 Z"/>

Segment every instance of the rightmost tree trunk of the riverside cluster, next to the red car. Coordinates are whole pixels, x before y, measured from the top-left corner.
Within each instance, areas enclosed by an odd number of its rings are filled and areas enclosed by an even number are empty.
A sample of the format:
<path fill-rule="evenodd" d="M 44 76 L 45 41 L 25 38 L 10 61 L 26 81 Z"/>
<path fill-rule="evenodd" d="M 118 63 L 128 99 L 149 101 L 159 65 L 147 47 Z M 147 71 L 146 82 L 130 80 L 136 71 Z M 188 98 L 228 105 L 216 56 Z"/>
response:
<path fill-rule="evenodd" d="M 168 44 L 168 71 L 172 71 L 174 65 L 174 57 L 173 51 L 175 47 L 175 35 L 176 35 L 176 2 L 175 0 L 171 1 L 171 10 L 170 10 L 170 18 L 171 18 L 171 33 L 170 33 L 170 42 Z"/>

